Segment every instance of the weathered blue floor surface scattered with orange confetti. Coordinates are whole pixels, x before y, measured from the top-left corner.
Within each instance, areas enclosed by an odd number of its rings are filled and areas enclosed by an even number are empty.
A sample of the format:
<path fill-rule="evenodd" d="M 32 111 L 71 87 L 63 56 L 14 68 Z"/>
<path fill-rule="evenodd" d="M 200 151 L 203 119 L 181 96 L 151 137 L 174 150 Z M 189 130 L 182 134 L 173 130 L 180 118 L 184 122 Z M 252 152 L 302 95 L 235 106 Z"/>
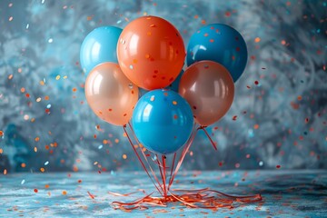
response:
<path fill-rule="evenodd" d="M 245 179 L 246 177 L 246 179 Z M 261 193 L 263 202 L 234 203 L 233 209 L 191 209 L 180 203 L 130 213 L 114 210 L 113 201 L 134 201 L 154 192 L 143 172 L 17 173 L 0 177 L 0 215 L 16 217 L 323 217 L 327 213 L 325 171 L 181 172 L 173 189 L 210 187 L 223 193 Z M 83 183 L 76 183 L 82 181 Z M 25 181 L 25 183 L 21 183 Z M 238 183 L 237 186 L 231 183 Z M 18 186 L 19 184 L 19 186 Z M 133 192 L 133 193 L 131 193 Z M 131 193 L 131 194 L 111 194 Z M 154 193 L 158 194 L 158 193 Z"/>

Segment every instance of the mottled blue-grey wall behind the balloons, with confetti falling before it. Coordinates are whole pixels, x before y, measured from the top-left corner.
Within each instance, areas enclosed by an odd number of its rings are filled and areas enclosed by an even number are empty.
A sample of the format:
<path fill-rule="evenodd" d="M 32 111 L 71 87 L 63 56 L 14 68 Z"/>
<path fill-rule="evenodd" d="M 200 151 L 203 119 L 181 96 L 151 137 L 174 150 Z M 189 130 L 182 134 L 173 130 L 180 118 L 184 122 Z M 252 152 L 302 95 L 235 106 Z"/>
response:
<path fill-rule="evenodd" d="M 123 129 L 85 102 L 79 49 L 95 27 L 142 15 L 185 45 L 223 23 L 248 46 L 233 106 L 208 128 L 218 152 L 200 132 L 184 169 L 327 168 L 326 1 L 1 0 L 0 173 L 141 169 Z"/>

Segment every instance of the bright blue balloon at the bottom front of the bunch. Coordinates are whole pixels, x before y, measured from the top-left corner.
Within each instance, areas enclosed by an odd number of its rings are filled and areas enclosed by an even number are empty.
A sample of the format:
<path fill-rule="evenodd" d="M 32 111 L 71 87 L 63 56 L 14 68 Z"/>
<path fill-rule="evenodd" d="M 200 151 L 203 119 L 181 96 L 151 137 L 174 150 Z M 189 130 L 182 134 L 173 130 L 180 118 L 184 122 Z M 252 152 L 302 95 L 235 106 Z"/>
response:
<path fill-rule="evenodd" d="M 181 95 L 157 89 L 144 94 L 138 101 L 132 123 L 146 149 L 156 154 L 171 154 L 189 139 L 193 114 Z"/>

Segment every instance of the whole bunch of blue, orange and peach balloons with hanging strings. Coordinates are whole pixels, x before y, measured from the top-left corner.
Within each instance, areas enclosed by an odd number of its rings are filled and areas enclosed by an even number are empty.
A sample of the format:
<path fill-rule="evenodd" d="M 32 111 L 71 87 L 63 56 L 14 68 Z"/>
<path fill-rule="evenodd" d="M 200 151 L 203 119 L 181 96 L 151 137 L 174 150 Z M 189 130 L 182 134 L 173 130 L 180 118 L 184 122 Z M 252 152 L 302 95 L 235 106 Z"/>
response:
<path fill-rule="evenodd" d="M 216 149 L 205 127 L 220 120 L 231 107 L 234 82 L 247 62 L 243 37 L 231 26 L 204 26 L 193 34 L 185 51 L 178 30 L 156 16 L 139 17 L 124 30 L 114 26 L 94 29 L 85 37 L 80 55 L 88 74 L 88 104 L 104 121 L 124 127 L 145 172 L 165 197 L 197 130 L 204 130 Z M 185 55 L 188 67 L 183 71 Z M 140 98 L 139 88 L 145 93 Z M 173 154 L 168 167 L 167 154 Z M 149 164 L 151 155 L 156 156 L 150 162 L 159 166 L 162 183 Z M 169 183 L 167 170 L 171 172 Z"/>

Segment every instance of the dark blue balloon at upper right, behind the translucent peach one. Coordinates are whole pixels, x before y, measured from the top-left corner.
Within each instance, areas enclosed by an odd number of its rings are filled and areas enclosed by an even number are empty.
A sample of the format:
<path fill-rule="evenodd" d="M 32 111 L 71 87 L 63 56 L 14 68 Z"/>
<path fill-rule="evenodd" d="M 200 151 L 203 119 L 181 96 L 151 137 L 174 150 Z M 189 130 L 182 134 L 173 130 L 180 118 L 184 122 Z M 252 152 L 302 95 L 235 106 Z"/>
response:
<path fill-rule="evenodd" d="M 229 25 L 203 26 L 192 35 L 187 47 L 188 66 L 203 60 L 223 64 L 234 82 L 243 74 L 247 56 L 242 35 Z"/>

